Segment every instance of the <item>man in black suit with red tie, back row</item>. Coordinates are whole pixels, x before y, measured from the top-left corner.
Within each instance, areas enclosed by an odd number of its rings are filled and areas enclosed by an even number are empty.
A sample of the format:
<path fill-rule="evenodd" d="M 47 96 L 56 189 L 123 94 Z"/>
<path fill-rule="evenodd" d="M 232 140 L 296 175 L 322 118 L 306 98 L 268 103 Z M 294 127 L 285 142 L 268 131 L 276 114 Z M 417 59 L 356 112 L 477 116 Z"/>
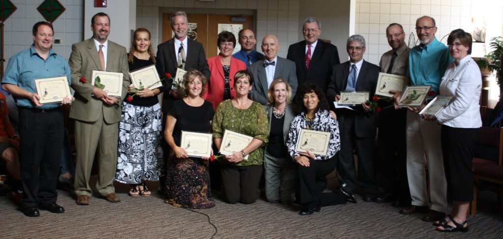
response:
<path fill-rule="evenodd" d="M 321 23 L 316 18 L 304 20 L 302 33 L 304 41 L 290 45 L 286 58 L 295 62 L 298 85 L 312 82 L 326 91 L 332 67 L 340 63 L 337 47 L 318 41 Z"/>

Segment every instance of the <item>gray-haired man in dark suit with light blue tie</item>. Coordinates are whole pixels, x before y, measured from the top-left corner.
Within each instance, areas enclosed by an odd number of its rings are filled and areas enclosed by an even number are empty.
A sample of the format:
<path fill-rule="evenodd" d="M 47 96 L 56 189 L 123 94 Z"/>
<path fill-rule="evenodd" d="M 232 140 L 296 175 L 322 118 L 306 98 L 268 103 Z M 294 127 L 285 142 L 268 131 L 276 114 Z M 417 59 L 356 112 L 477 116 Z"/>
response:
<path fill-rule="evenodd" d="M 331 82 L 326 92 L 331 101 L 339 101 L 343 91 L 369 91 L 369 100 L 374 95 L 379 76 L 379 67 L 363 60 L 365 39 L 360 35 L 348 38 L 347 51 L 350 60 L 333 67 Z M 358 156 L 358 181 L 363 191 L 363 200 L 375 198 L 377 185 L 374 172 L 374 138 L 376 115 L 362 102 L 351 109 L 337 109 L 337 121 L 341 134 L 341 151 L 337 176 L 344 189 L 356 189 L 353 147 Z"/>

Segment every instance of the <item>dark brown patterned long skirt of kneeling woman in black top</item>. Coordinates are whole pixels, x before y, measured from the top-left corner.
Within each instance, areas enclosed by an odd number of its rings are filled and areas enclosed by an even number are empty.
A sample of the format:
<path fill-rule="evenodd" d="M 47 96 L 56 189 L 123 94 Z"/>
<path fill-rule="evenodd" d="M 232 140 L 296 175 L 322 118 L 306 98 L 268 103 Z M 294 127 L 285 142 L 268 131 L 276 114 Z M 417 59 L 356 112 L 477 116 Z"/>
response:
<path fill-rule="evenodd" d="M 165 202 L 194 209 L 214 207 L 209 182 L 208 160 L 172 157 L 166 160 Z"/>

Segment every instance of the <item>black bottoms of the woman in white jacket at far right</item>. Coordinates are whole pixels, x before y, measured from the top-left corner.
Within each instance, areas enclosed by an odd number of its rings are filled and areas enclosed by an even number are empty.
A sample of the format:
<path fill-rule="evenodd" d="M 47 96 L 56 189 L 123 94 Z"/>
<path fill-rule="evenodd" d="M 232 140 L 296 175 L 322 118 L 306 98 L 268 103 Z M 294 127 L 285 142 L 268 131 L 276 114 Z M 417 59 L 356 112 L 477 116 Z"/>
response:
<path fill-rule="evenodd" d="M 447 190 L 452 200 L 473 200 L 472 160 L 479 128 L 453 128 L 442 125 L 442 156 Z"/>

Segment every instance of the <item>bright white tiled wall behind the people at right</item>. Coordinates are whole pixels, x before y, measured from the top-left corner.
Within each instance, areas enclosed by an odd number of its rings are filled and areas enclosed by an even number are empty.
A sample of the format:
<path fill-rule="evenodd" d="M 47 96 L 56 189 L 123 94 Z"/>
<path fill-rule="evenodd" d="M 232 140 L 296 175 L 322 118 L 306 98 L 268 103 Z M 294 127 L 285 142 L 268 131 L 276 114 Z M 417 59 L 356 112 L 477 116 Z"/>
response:
<path fill-rule="evenodd" d="M 379 64 L 381 55 L 391 49 L 385 36 L 390 23 L 403 26 L 407 43 L 410 34 L 417 39 L 414 30 L 416 19 L 428 15 L 435 19 L 438 27 L 436 37 L 441 40 L 454 29 L 472 29 L 472 17 L 493 18 L 491 13 L 496 17 L 495 22 L 489 24 L 499 26 L 493 36 L 501 36 L 503 7 L 499 0 L 356 0 L 355 33 L 362 35 L 367 42 L 365 59 Z"/>

